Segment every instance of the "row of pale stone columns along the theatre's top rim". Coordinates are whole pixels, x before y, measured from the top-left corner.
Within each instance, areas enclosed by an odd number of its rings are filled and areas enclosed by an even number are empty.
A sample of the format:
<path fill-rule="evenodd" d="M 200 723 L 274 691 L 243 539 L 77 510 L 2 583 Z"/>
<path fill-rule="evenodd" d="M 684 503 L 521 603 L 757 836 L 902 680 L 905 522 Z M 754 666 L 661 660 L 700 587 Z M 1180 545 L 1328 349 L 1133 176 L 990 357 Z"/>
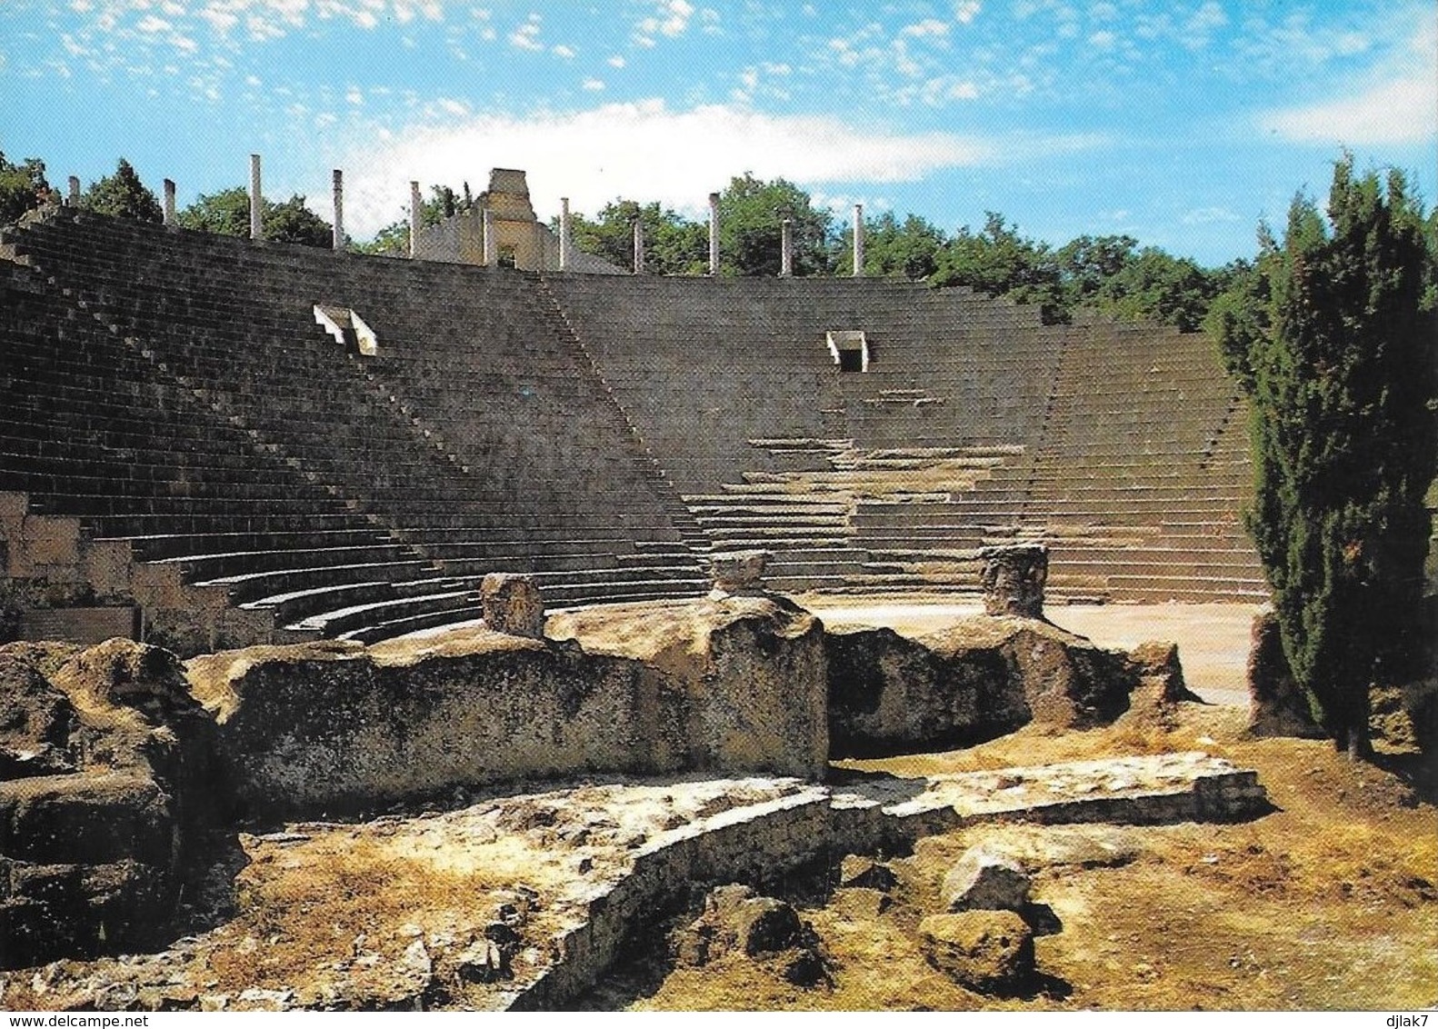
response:
<path fill-rule="evenodd" d="M 345 198 L 344 172 L 335 168 L 331 180 L 331 198 L 334 201 L 334 249 L 345 249 Z M 265 231 L 265 201 L 260 191 L 260 155 L 250 154 L 250 239 L 257 240 Z M 81 180 L 75 175 L 69 178 L 69 203 L 79 206 Z M 416 256 L 416 244 L 420 236 L 420 213 L 424 198 L 420 194 L 420 184 L 410 183 L 410 257 Z M 165 180 L 164 200 L 165 224 L 175 224 L 175 184 Z M 495 240 L 495 216 L 486 207 L 482 213 L 485 221 L 485 263 L 495 264 L 499 259 L 498 243 Z M 794 274 L 794 223 L 784 218 L 779 224 L 779 274 L 789 277 Z M 864 273 L 864 206 L 854 204 L 854 272 L 856 277 Z M 574 263 L 574 231 L 569 220 L 569 198 L 559 198 L 559 270 L 568 270 Z M 644 272 L 644 223 L 634 220 L 634 274 Z M 719 274 L 719 194 L 709 194 L 709 274 Z"/>

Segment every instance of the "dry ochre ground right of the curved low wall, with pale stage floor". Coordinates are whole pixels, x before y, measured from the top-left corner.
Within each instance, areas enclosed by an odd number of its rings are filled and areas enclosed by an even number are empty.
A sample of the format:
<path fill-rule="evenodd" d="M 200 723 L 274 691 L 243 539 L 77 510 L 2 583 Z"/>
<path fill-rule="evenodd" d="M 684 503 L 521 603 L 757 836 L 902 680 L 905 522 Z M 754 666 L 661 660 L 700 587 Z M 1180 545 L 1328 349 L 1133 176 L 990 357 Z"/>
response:
<path fill-rule="evenodd" d="M 807 604 L 830 622 L 887 624 L 907 632 L 972 612 L 847 598 Z M 1219 703 L 1136 710 L 1087 733 L 1028 729 L 961 752 L 844 765 L 917 775 L 1201 749 L 1258 770 L 1274 805 L 1267 816 L 1234 825 L 999 825 L 935 836 L 893 859 L 899 887 L 889 900 L 851 890 L 794 897 L 821 940 L 830 984 L 800 989 L 742 956 L 703 969 L 673 967 L 659 940 L 591 1003 L 669 1010 L 1438 1005 L 1432 769 L 1412 755 L 1355 765 L 1323 742 L 1248 737 L 1245 710 L 1235 703 L 1247 697 L 1242 665 L 1254 611 L 1160 605 L 1048 612 L 1054 622 L 1106 644 L 1175 640 L 1191 687 Z M 1106 846 L 1096 849 L 1096 839 Z M 1037 940 L 1041 979 L 1027 996 L 971 993 L 919 951 L 917 923 L 942 910 L 946 869 L 981 841 L 1022 855 L 1034 900 L 1061 923 Z"/>

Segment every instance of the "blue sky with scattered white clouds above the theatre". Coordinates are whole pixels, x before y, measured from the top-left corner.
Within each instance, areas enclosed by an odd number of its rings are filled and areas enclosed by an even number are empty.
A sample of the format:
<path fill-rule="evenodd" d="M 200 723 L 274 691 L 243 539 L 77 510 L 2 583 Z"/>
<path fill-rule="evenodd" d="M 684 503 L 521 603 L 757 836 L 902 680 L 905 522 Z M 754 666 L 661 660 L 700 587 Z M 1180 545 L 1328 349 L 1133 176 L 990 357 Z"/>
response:
<path fill-rule="evenodd" d="M 732 175 L 847 217 L 952 231 L 1002 211 L 1054 244 L 1129 233 L 1205 263 L 1254 250 L 1300 187 L 1360 168 L 1438 195 L 1438 6 L 4 0 L 0 149 L 83 183 L 125 155 L 158 191 L 247 181 L 357 239 L 408 181 L 526 168 L 559 197 L 697 216 Z"/>

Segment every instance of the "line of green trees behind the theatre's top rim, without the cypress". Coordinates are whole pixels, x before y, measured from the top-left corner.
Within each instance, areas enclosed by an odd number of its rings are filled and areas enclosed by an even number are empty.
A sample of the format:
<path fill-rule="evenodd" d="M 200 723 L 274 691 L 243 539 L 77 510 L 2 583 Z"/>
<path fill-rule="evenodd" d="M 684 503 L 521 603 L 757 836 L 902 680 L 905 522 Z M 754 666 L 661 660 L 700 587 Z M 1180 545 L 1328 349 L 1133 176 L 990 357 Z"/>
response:
<path fill-rule="evenodd" d="M 0 152 L 0 223 L 14 221 L 46 200 L 58 203 L 59 197 L 46 181 L 45 162 L 26 158 L 13 164 Z M 437 224 L 475 204 L 467 183 L 462 190 L 431 185 L 420 208 L 420 223 Z M 155 194 L 124 158 L 112 175 L 81 194 L 81 207 L 142 221 L 162 217 Z M 792 227 L 795 274 L 853 273 L 853 227 L 847 218 L 838 224 L 830 210 L 815 206 L 807 191 L 784 178 L 764 181 L 751 174 L 733 177 L 719 193 L 719 273 L 777 276 L 785 218 Z M 249 191 L 234 185 L 201 194 L 177 213 L 177 220 L 186 229 L 247 236 Z M 656 201 L 618 198 L 592 216 L 574 214 L 574 243 L 613 264 L 633 267 L 636 223 L 643 224 L 646 272 L 707 273 L 707 224 Z M 558 230 L 558 218 L 551 227 Z M 332 244 L 329 223 L 305 206 L 303 194 L 283 201 L 266 198 L 263 234 L 282 243 Z M 351 240 L 348 246 L 360 253 L 406 256 L 408 237 L 408 218 L 403 218 L 370 240 Z M 1051 323 L 1068 322 L 1078 310 L 1094 310 L 1194 331 L 1219 295 L 1252 273 L 1252 264 L 1235 260 L 1217 269 L 1204 267 L 1160 247 L 1140 246 L 1132 236 L 1080 236 L 1054 247 L 1021 234 L 997 211 L 985 213 L 981 227 L 963 226 L 952 234 L 916 214 L 881 211 L 864 218 L 863 272 L 933 286 L 969 286 L 989 296 L 1040 305 Z"/>

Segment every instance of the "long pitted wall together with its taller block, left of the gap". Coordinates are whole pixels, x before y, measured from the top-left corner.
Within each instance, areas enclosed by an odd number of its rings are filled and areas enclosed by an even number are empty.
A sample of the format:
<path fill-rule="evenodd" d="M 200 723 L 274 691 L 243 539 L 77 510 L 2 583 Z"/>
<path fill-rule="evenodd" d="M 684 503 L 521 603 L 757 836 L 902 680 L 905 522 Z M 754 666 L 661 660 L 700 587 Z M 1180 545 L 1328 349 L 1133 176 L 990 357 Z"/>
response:
<path fill-rule="evenodd" d="M 190 661 L 256 815 L 372 809 L 516 779 L 766 772 L 828 757 L 821 628 L 680 605 L 697 641 L 649 660 L 476 632 L 437 647 L 296 644 Z"/>

